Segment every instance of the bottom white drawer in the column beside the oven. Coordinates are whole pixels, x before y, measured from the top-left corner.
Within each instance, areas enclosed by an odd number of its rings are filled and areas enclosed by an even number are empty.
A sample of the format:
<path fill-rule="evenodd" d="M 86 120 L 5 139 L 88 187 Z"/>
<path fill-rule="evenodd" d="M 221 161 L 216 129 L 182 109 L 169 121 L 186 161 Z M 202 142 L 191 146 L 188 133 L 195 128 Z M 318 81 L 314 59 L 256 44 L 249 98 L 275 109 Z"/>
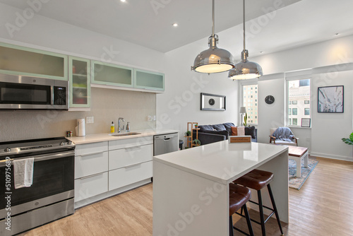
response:
<path fill-rule="evenodd" d="M 75 179 L 75 201 L 88 199 L 106 191 L 108 191 L 108 172 Z"/>

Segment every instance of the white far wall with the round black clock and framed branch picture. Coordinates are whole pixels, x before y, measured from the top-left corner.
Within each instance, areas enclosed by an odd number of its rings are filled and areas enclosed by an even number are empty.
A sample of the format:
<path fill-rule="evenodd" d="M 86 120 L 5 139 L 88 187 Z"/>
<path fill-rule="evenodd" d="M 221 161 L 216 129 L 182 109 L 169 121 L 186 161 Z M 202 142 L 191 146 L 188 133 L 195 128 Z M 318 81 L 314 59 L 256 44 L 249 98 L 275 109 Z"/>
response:
<path fill-rule="evenodd" d="M 312 155 L 353 160 L 352 146 L 341 141 L 353 131 L 352 40 L 350 35 L 251 59 L 261 64 L 265 73 L 258 79 L 258 141 L 268 143 L 269 128 L 285 125 L 286 75 L 311 69 L 312 128 L 291 129 L 299 137 L 299 146 L 309 148 Z M 345 113 L 318 114 L 317 88 L 328 85 L 345 85 Z M 274 95 L 273 105 L 265 103 L 266 95 Z"/>

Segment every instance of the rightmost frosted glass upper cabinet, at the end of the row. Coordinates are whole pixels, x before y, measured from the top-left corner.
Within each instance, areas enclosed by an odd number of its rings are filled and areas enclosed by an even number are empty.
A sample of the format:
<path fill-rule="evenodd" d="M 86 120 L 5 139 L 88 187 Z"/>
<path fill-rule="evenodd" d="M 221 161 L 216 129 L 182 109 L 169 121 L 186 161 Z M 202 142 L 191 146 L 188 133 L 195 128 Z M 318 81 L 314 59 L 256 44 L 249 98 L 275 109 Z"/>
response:
<path fill-rule="evenodd" d="M 164 90 L 164 73 L 135 69 L 135 88 Z"/>

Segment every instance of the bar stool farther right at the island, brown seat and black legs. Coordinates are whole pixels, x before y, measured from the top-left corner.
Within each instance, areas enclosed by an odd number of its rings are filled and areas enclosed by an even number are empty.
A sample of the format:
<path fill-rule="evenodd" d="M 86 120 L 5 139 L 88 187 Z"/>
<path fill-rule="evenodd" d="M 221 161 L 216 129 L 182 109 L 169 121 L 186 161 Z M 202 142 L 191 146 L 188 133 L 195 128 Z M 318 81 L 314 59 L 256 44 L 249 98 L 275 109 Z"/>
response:
<path fill-rule="evenodd" d="M 234 180 L 234 184 L 240 184 L 240 185 L 242 185 L 244 187 L 248 187 L 248 188 L 255 189 L 256 191 L 258 191 L 258 203 L 254 202 L 254 201 L 251 201 L 251 200 L 249 200 L 249 201 L 251 203 L 255 203 L 255 204 L 258 205 L 258 208 L 259 208 L 259 211 L 260 211 L 261 222 L 258 222 L 258 221 L 253 220 L 253 219 L 251 219 L 251 221 L 261 225 L 261 231 L 262 231 L 263 236 L 266 235 L 265 223 L 268 221 L 268 219 L 271 216 L 273 216 L 273 213 L 275 213 L 275 216 L 277 218 L 278 226 L 280 227 L 281 234 L 283 235 L 282 225 L 281 225 L 281 222 L 280 222 L 280 216 L 278 216 L 278 212 L 277 212 L 277 208 L 276 208 L 276 204 L 275 204 L 275 199 L 273 199 L 273 194 L 272 194 L 272 190 L 271 190 L 271 187 L 270 187 L 270 182 L 272 180 L 273 180 L 273 173 L 267 172 L 267 171 L 263 171 L 263 170 L 251 170 L 251 172 L 247 173 L 246 175 L 243 175 L 239 179 L 235 179 Z M 268 194 L 270 194 L 270 199 L 271 199 L 271 203 L 272 203 L 273 208 L 269 208 L 268 206 L 263 206 L 263 203 L 262 203 L 261 189 L 263 189 L 266 186 L 268 187 Z M 270 211 L 272 211 L 270 213 L 270 216 L 268 216 L 268 218 L 266 220 L 264 219 L 264 216 L 263 216 L 263 208 L 267 208 Z M 242 213 L 239 214 L 239 215 L 243 216 Z"/>

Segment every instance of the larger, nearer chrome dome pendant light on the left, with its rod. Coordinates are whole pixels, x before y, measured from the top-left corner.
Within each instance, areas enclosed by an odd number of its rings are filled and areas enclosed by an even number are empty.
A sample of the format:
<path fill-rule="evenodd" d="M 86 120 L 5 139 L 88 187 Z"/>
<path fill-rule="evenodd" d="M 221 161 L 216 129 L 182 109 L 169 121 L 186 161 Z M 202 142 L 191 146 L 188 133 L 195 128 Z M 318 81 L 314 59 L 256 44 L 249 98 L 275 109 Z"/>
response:
<path fill-rule="evenodd" d="M 209 49 L 200 52 L 191 66 L 191 70 L 200 73 L 219 73 L 234 68 L 234 59 L 230 52 L 217 47 L 218 35 L 215 35 L 215 0 L 212 1 L 212 35 L 208 37 Z"/>

